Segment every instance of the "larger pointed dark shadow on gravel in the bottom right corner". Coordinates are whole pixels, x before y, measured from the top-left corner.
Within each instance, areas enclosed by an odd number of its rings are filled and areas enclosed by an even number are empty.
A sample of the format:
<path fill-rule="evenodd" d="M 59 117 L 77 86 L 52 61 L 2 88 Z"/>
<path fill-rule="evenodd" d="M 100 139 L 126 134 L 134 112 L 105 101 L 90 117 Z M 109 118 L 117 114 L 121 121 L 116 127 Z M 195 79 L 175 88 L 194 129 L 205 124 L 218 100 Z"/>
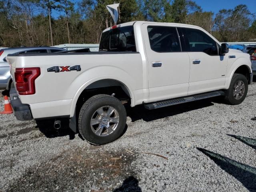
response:
<path fill-rule="evenodd" d="M 256 168 L 242 164 L 220 154 L 206 149 L 197 148 L 200 152 L 213 160 L 222 170 L 240 181 L 250 192 L 256 191 Z"/>

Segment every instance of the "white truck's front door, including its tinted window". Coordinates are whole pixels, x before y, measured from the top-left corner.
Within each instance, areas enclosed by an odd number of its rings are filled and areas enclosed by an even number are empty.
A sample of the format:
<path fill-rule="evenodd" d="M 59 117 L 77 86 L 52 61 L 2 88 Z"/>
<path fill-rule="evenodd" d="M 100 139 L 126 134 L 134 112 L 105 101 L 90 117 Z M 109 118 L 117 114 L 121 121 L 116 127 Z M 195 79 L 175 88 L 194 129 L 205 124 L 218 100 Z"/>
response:
<path fill-rule="evenodd" d="M 182 49 L 190 57 L 188 95 L 224 88 L 227 58 L 219 55 L 216 41 L 204 31 L 194 28 L 178 28 Z"/>

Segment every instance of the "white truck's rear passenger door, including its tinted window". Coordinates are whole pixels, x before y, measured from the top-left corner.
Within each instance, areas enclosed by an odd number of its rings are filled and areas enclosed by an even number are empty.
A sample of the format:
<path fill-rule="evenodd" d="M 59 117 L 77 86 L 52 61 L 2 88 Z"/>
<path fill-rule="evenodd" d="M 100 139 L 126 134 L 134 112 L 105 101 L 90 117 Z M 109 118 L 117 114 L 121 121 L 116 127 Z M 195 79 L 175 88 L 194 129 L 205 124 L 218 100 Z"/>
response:
<path fill-rule="evenodd" d="M 182 52 L 176 27 L 142 26 L 148 59 L 150 102 L 187 96 L 189 56 Z"/>

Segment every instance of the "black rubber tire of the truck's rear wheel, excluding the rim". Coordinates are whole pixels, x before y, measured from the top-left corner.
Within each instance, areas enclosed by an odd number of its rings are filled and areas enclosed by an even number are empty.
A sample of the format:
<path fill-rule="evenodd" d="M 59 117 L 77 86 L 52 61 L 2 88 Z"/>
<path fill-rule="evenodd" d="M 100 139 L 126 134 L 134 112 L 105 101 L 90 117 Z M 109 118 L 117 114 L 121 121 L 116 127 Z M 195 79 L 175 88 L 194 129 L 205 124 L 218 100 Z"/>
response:
<path fill-rule="evenodd" d="M 104 106 L 114 107 L 119 114 L 119 122 L 116 129 L 107 136 L 96 135 L 91 128 L 91 118 L 95 112 Z M 90 144 L 103 145 L 118 139 L 124 132 L 126 126 L 126 110 L 120 100 L 115 97 L 100 94 L 89 98 L 82 106 L 79 118 L 78 129 L 81 136 Z"/>

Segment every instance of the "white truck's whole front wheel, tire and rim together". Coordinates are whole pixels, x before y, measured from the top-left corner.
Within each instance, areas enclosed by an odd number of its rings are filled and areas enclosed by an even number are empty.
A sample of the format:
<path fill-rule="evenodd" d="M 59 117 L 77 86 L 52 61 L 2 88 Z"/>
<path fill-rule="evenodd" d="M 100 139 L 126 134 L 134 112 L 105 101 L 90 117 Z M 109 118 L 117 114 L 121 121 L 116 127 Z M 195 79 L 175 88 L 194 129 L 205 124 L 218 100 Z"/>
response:
<path fill-rule="evenodd" d="M 247 78 L 242 74 L 234 74 L 226 91 L 225 100 L 230 105 L 242 103 L 248 92 Z"/>

